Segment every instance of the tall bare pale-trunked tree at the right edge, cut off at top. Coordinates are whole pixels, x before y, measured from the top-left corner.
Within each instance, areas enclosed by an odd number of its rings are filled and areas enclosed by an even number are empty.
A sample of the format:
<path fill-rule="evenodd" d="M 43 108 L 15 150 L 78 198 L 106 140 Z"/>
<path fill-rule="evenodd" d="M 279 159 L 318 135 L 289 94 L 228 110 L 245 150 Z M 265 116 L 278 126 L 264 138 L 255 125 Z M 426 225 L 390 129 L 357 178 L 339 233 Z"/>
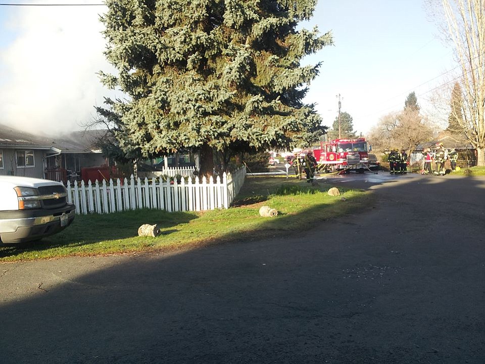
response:
<path fill-rule="evenodd" d="M 462 117 L 457 117 L 467 141 L 485 165 L 485 0 L 441 0 L 447 32 L 460 65 Z M 458 116 L 458 115 L 457 115 Z"/>

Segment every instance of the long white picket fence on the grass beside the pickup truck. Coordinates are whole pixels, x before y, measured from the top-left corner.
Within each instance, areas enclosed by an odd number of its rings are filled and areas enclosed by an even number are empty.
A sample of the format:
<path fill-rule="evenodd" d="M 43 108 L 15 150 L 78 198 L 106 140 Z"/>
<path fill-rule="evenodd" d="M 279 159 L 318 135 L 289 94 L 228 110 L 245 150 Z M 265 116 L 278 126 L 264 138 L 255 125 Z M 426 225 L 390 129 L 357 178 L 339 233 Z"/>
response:
<path fill-rule="evenodd" d="M 246 167 L 234 173 L 224 173 L 222 180 L 217 176 L 192 178 L 182 177 L 180 183 L 157 178 L 135 178 L 128 180 L 110 179 L 107 184 L 98 180 L 94 184 L 84 181 L 78 186 L 68 182 L 68 201 L 76 206 L 76 213 L 112 213 L 141 208 L 166 211 L 202 211 L 229 208 L 246 178 Z"/>

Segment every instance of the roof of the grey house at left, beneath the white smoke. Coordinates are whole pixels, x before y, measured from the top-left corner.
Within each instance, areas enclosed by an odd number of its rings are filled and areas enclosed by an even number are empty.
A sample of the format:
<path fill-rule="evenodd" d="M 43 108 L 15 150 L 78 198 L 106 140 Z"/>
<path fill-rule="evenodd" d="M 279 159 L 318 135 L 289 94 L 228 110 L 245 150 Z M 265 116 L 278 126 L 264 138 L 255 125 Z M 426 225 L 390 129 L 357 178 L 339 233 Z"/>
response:
<path fill-rule="evenodd" d="M 101 153 L 95 142 L 106 135 L 107 130 L 73 131 L 58 136 L 34 135 L 0 124 L 0 148 L 30 148 L 61 153 Z M 54 150 L 54 149 L 53 149 Z"/>

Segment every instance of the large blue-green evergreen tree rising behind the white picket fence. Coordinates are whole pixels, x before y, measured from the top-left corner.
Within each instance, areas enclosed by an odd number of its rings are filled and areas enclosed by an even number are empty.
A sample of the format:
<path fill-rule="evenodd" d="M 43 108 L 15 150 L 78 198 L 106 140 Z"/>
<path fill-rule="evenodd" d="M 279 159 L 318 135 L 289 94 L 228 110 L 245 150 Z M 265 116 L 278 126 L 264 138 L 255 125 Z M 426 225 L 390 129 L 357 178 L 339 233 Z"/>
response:
<path fill-rule="evenodd" d="M 316 0 L 107 0 L 106 57 L 118 75 L 102 81 L 124 100 L 99 109 L 116 120 L 125 156 L 304 146 L 321 129 L 303 98 L 318 74 L 301 59 L 331 33 L 297 30 Z"/>

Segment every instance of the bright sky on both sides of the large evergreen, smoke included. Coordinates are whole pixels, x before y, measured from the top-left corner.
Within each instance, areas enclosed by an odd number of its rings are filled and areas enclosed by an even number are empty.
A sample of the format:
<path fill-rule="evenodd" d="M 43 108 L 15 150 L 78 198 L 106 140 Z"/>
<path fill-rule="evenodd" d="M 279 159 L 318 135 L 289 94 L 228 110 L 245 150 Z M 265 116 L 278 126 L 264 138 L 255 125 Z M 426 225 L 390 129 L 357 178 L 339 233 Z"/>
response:
<path fill-rule="evenodd" d="M 1 4 L 102 4 L 102 0 L 0 0 Z M 41 133 L 81 130 L 105 96 L 96 74 L 113 72 L 104 58 L 105 6 L 0 6 L 0 124 Z M 452 50 L 423 0 L 320 0 L 309 22 L 332 31 L 334 45 L 307 56 L 322 62 L 305 99 L 323 124 L 342 112 L 367 133 L 415 92 L 423 113 L 432 90 L 456 67 Z"/>

